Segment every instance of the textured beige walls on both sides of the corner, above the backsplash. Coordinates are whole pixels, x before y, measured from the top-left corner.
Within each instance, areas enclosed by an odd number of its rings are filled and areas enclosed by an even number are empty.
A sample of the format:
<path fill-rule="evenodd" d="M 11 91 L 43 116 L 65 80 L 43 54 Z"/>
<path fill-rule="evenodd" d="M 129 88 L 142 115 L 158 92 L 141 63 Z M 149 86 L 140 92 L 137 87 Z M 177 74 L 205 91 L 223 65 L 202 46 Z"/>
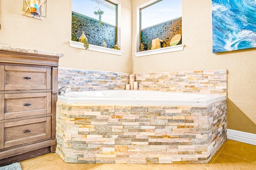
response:
<path fill-rule="evenodd" d="M 256 49 L 212 53 L 210 0 L 182 1 L 183 51 L 138 58 L 133 55 L 136 7 L 148 0 L 119 1 L 122 56 L 69 47 L 71 0 L 48 0 L 43 21 L 21 15 L 21 0 L 0 0 L 0 45 L 64 53 L 60 67 L 68 68 L 120 72 L 227 69 L 228 128 L 256 133 Z"/>

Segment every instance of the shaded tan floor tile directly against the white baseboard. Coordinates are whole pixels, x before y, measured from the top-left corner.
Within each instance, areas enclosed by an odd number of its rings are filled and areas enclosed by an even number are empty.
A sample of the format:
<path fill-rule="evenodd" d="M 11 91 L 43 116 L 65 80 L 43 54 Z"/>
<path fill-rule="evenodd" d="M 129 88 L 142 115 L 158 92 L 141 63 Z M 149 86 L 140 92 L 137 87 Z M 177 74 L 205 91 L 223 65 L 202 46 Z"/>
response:
<path fill-rule="evenodd" d="M 222 149 L 222 153 L 256 162 L 256 146 L 254 145 L 229 140 Z"/>

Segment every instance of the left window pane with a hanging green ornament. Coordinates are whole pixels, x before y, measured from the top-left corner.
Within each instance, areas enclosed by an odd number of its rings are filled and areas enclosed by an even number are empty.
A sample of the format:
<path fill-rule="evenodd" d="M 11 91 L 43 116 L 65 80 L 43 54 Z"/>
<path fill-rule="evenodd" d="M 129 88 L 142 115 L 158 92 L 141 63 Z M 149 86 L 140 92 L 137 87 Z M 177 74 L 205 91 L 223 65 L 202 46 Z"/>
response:
<path fill-rule="evenodd" d="M 72 0 L 72 41 L 82 32 L 89 44 L 113 48 L 117 41 L 117 4 L 108 0 Z M 105 46 L 104 46 L 105 47 Z"/>

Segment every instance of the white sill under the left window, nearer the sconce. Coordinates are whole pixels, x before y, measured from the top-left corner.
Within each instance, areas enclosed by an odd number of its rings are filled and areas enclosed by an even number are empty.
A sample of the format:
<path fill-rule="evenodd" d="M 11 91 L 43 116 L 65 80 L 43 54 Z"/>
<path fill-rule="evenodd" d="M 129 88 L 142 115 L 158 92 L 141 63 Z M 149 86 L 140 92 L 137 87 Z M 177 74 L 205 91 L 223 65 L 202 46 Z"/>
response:
<path fill-rule="evenodd" d="M 68 42 L 69 42 L 70 47 L 74 47 L 74 48 L 78 48 L 78 49 L 85 49 L 84 43 L 80 43 L 77 41 L 68 41 Z M 108 54 L 114 54 L 114 55 L 122 55 L 122 53 L 124 52 L 121 50 L 110 49 L 110 48 L 100 47 L 100 46 L 91 45 L 91 44 L 89 44 L 89 48 L 87 50 L 98 51 L 101 53 L 108 53 Z"/>

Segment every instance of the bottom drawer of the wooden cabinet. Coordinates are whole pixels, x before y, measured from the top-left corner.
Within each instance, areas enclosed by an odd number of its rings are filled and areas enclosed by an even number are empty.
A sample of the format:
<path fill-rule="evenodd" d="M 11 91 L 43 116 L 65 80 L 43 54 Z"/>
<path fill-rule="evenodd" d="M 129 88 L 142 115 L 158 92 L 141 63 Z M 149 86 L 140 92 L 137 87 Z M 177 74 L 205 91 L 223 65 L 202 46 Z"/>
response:
<path fill-rule="evenodd" d="M 51 117 L 4 123 L 4 148 L 51 137 Z"/>

